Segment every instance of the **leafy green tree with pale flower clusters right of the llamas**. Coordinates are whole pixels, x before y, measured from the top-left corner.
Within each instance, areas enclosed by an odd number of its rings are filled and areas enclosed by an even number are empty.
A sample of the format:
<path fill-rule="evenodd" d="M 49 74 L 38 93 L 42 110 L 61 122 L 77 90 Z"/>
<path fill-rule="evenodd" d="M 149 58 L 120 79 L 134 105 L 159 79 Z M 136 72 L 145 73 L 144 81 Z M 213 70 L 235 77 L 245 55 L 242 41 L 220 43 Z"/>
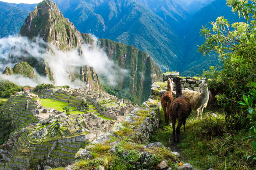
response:
<path fill-rule="evenodd" d="M 210 87 L 221 87 L 217 100 L 226 109 L 226 119 L 236 128 L 249 128 L 250 115 L 236 107 L 243 94 L 249 94 L 251 83 L 256 81 L 256 0 L 227 0 L 228 6 L 246 22 L 229 24 L 224 17 L 212 22 L 212 28 L 203 27 L 206 38 L 198 51 L 204 56 L 218 54 L 221 66 L 210 67 L 203 76 L 212 81 Z"/>

